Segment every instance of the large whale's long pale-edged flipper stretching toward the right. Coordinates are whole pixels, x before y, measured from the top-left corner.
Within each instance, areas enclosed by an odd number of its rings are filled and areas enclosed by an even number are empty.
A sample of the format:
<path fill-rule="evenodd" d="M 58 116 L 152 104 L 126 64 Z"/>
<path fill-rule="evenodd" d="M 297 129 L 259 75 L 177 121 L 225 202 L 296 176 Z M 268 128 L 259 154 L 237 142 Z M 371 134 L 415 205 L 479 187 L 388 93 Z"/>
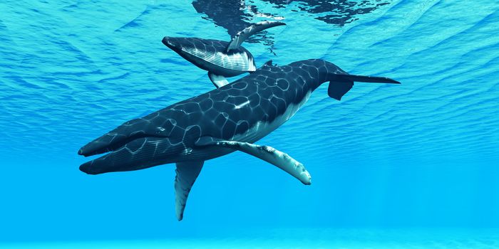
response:
<path fill-rule="evenodd" d="M 219 146 L 236 149 L 240 152 L 245 152 L 254 157 L 258 157 L 259 159 L 267 161 L 270 164 L 274 164 L 279 167 L 279 169 L 286 171 L 295 178 L 299 179 L 299 181 L 302 181 L 305 185 L 310 185 L 312 183 L 312 177 L 303 164 L 292 157 L 289 157 L 288 154 L 280 152 L 279 150 L 269 146 L 260 146 L 257 144 L 249 144 L 247 142 L 226 141 L 215 139 L 213 137 L 201 137 L 197 140 L 195 145 L 198 147 Z"/>

